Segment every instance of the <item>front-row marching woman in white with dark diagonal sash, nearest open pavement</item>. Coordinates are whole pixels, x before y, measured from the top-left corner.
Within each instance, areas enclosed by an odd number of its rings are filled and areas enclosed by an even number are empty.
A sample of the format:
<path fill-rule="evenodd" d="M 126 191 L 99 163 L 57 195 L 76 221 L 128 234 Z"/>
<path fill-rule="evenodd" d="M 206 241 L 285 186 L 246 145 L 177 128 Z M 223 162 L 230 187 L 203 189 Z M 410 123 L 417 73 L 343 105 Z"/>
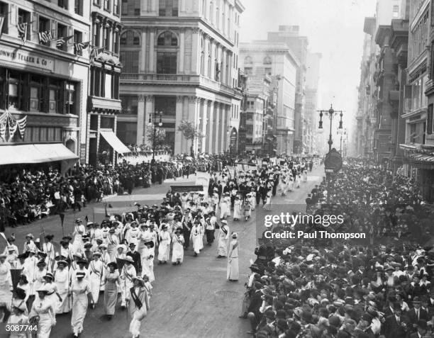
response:
<path fill-rule="evenodd" d="M 133 338 L 140 335 L 140 325 L 149 310 L 149 295 L 144 286 L 144 281 L 140 277 L 133 278 L 133 288 L 131 288 L 131 300 L 128 303 L 128 310 L 131 315 L 130 334 Z"/>

